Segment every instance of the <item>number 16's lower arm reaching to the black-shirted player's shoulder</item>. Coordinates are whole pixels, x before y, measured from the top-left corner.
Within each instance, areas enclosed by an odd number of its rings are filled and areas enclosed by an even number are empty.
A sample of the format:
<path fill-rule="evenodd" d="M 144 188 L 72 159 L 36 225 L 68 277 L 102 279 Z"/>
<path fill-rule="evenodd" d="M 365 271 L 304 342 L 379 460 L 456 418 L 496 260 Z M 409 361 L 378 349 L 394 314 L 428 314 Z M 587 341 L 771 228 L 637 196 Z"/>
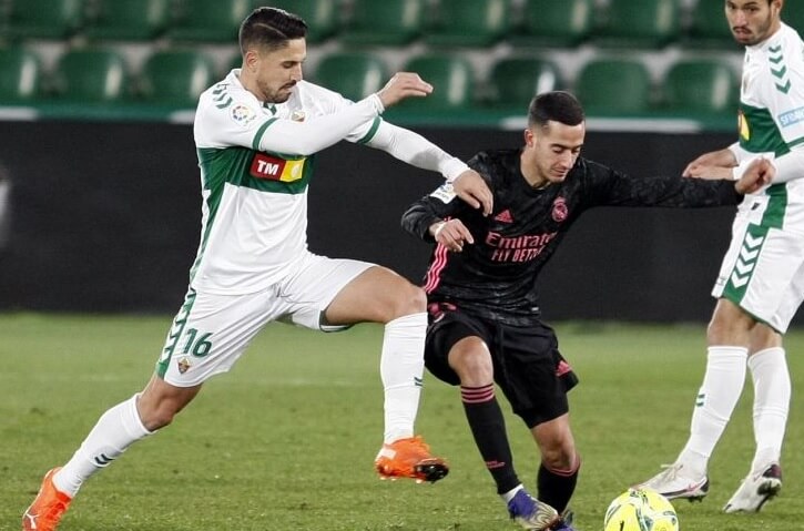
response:
<path fill-rule="evenodd" d="M 461 160 L 451 156 L 418 133 L 379 122 L 366 145 L 383 150 L 396 159 L 423 170 L 438 172 L 452 184 L 458 197 L 489 215 L 493 207 L 491 191 L 482 177 Z"/>

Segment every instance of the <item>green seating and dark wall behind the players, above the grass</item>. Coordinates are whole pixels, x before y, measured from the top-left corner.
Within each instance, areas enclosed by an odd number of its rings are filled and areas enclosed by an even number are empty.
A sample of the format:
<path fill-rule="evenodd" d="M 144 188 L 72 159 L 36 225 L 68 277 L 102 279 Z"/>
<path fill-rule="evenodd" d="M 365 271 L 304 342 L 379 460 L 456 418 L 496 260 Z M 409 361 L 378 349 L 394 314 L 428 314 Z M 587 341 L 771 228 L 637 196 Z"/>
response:
<path fill-rule="evenodd" d="M 197 246 L 197 94 L 240 64 L 255 0 L 0 0 L 0 308 L 174 312 Z M 722 0 L 277 0 L 311 27 L 307 79 L 359 99 L 415 70 L 386 118 L 468 159 L 521 142 L 574 91 L 587 156 L 680 172 L 734 140 L 742 50 Z M 804 4 L 784 19 L 804 27 Z M 381 175 L 383 178 L 377 178 Z M 398 218 L 438 176 L 338 144 L 317 157 L 311 247 L 420 278 Z M 338 201 L 332 201 L 338 197 Z M 705 320 L 731 208 L 584 217 L 542 283 L 549 319 Z"/>

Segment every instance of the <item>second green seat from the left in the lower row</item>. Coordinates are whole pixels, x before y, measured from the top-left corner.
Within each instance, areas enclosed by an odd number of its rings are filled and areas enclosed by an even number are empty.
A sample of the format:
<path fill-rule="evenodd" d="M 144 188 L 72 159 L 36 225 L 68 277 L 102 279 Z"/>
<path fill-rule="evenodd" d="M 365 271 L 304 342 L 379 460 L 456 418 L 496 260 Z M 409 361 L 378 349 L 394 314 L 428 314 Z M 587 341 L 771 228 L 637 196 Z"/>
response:
<path fill-rule="evenodd" d="M 112 49 L 64 52 L 57 61 L 52 81 L 53 96 L 69 102 L 110 103 L 130 95 L 128 64 Z"/>

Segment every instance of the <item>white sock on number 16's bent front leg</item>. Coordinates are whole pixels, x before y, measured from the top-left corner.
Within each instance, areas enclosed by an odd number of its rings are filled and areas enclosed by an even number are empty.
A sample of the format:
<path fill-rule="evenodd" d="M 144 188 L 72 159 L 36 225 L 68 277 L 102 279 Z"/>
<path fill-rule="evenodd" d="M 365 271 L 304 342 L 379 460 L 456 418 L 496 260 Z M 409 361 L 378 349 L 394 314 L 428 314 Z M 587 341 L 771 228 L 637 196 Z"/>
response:
<path fill-rule="evenodd" d="M 385 388 L 384 442 L 414 436 L 425 370 L 427 314 L 410 314 L 385 325 L 379 374 Z"/>

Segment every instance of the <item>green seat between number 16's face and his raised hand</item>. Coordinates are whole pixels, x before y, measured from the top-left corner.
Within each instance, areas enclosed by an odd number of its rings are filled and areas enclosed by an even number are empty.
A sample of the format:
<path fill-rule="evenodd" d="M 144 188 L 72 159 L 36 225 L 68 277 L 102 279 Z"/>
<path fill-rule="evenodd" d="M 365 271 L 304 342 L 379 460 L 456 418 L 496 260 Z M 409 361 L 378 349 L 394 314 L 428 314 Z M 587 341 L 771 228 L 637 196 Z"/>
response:
<path fill-rule="evenodd" d="M 335 52 L 318 62 L 313 81 L 357 101 L 380 90 L 388 81 L 388 72 L 379 57 L 366 52 Z"/>

